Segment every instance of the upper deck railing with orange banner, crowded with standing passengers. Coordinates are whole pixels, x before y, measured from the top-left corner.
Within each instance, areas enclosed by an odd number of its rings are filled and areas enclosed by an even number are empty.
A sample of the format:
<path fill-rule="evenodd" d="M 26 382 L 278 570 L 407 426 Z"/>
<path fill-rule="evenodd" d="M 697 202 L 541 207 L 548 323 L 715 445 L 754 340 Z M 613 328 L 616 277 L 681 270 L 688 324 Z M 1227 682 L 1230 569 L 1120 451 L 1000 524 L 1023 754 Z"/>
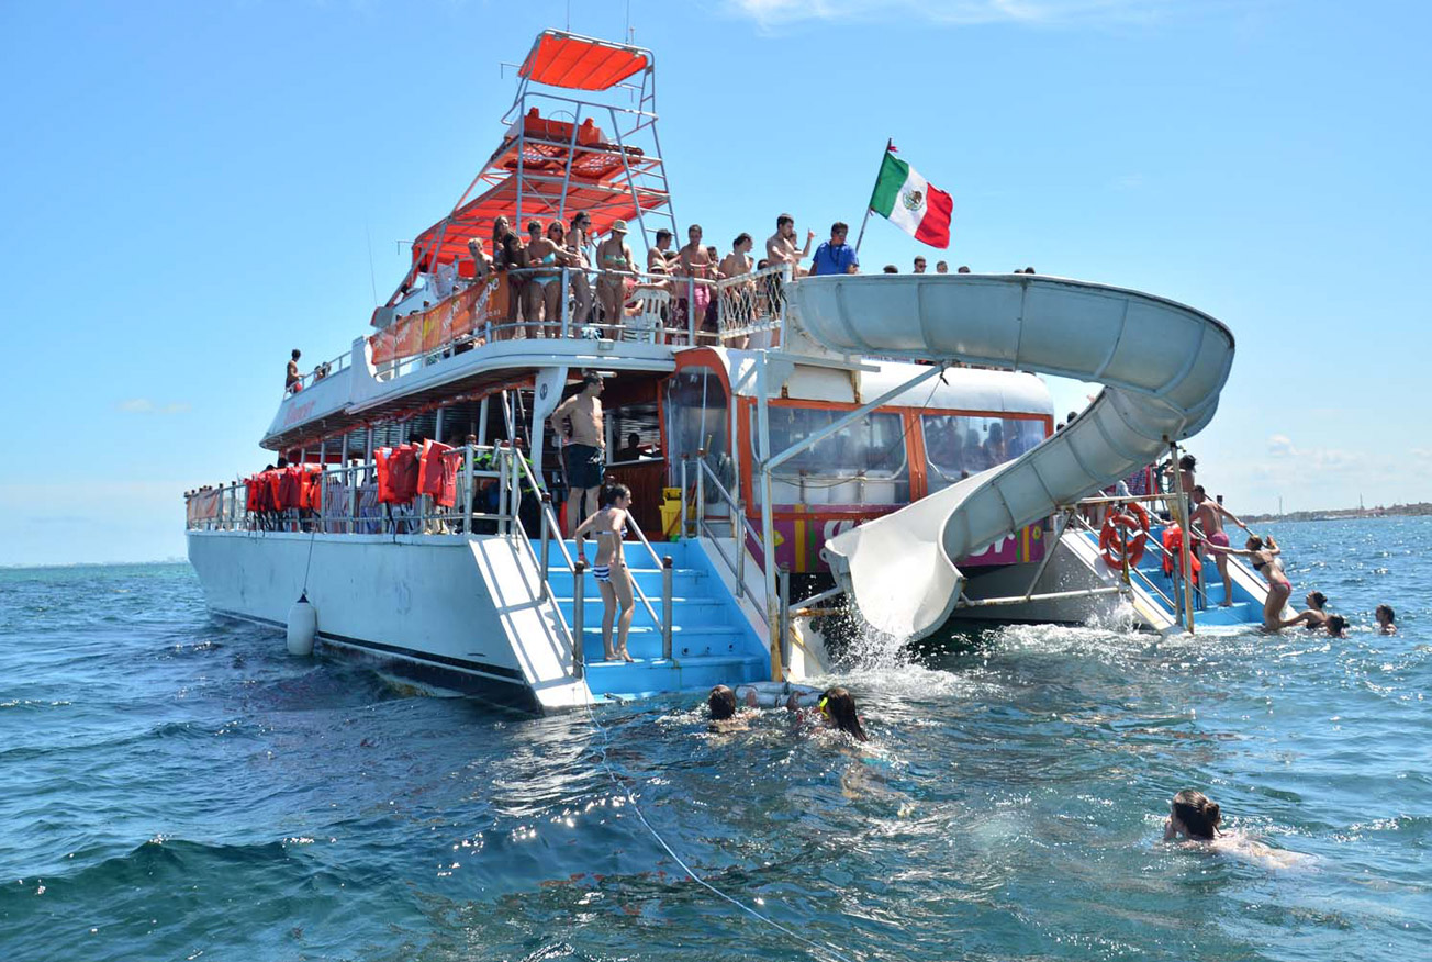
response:
<path fill-rule="evenodd" d="M 726 279 L 576 266 L 513 268 L 394 318 L 368 338 L 371 361 L 377 376 L 390 379 L 500 341 L 579 338 L 743 346 L 752 334 L 780 329 L 788 278 L 789 268 Z M 533 305 L 523 301 L 533 298 L 536 283 L 558 285 L 560 316 L 528 316 Z M 620 296 L 621 316 L 616 319 L 603 316 L 611 295 Z M 772 335 L 770 346 L 778 338 Z"/>

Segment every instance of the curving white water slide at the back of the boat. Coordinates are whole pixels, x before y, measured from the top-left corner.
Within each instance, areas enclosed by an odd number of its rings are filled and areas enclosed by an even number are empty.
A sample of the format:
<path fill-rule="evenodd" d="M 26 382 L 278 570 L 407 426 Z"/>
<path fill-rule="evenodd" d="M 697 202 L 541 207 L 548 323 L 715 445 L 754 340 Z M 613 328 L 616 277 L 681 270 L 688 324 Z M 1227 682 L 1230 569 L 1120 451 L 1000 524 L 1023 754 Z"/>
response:
<path fill-rule="evenodd" d="M 945 623 L 965 581 L 955 558 L 1203 429 L 1233 365 L 1233 335 L 1201 311 L 1083 281 L 821 276 L 790 285 L 789 299 L 793 322 L 841 354 L 987 364 L 1104 385 L 1073 425 L 1020 458 L 826 543 L 861 614 L 895 637 L 924 637 Z"/>

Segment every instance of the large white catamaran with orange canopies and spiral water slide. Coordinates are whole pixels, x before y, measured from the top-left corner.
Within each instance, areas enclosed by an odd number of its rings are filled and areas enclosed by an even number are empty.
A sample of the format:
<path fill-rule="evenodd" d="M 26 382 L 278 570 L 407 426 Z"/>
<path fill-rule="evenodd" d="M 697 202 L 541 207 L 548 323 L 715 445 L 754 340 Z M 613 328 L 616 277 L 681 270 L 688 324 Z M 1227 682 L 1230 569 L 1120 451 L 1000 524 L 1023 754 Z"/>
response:
<path fill-rule="evenodd" d="M 285 388 L 261 442 L 279 467 L 186 495 L 215 614 L 524 711 L 826 673 L 803 616 L 841 593 L 908 638 L 1113 606 L 1157 631 L 1260 618 L 1242 565 L 1229 597 L 1183 577 L 1196 558 L 1157 517 L 1181 498 L 1081 504 L 1213 417 L 1233 336 L 1193 308 L 1031 275 L 674 276 L 590 249 L 490 271 L 468 242 L 500 242 L 500 218 L 676 232 L 654 70 L 632 44 L 537 37 L 497 149 L 372 332 Z M 633 495 L 630 663 L 603 660 L 561 537 L 548 419 L 586 372 L 604 480 Z M 1106 388 L 1055 432 L 1040 375 Z"/>

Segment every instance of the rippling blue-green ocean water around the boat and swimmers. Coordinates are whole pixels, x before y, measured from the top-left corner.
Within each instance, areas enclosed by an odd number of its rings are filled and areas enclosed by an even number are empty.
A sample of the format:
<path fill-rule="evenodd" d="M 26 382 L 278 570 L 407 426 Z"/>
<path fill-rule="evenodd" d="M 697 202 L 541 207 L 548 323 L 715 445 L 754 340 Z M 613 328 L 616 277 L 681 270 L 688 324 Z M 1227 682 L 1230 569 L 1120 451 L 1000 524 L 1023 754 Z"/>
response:
<path fill-rule="evenodd" d="M 1426 958 L 1432 518 L 1272 530 L 1348 638 L 872 646 L 861 749 L 417 697 L 186 565 L 0 571 L 0 959 Z M 1160 840 L 1183 787 L 1229 845 Z"/>

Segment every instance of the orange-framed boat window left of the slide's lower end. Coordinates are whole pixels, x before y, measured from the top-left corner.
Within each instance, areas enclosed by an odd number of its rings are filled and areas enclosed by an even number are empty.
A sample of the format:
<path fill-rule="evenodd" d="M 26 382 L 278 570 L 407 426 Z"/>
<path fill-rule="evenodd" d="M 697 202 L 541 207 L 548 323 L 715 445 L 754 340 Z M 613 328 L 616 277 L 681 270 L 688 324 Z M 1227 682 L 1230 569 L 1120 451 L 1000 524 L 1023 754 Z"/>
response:
<path fill-rule="evenodd" d="M 846 411 L 770 408 L 770 450 L 780 452 L 831 427 Z M 759 411 L 752 409 L 752 438 Z M 759 504 L 759 485 L 755 501 Z M 875 412 L 848 424 L 782 464 L 772 475 L 775 504 L 906 504 L 909 462 L 901 415 Z"/>

